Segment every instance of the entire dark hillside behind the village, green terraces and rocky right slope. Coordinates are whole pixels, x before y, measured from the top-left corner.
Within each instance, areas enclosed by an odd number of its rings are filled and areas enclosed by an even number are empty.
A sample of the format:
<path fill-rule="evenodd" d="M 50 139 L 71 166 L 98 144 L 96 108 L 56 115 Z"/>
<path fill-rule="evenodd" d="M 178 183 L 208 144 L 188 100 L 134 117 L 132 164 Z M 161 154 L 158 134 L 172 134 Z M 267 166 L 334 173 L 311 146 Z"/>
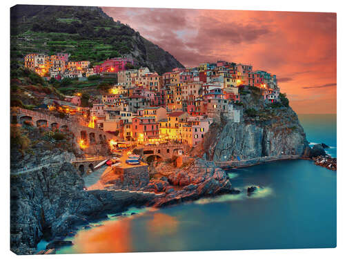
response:
<path fill-rule="evenodd" d="M 139 32 L 108 17 L 101 8 L 17 5 L 11 8 L 11 58 L 30 52 L 69 52 L 70 60 L 97 64 L 111 57 L 132 56 L 138 66 L 162 74 L 184 66 Z"/>

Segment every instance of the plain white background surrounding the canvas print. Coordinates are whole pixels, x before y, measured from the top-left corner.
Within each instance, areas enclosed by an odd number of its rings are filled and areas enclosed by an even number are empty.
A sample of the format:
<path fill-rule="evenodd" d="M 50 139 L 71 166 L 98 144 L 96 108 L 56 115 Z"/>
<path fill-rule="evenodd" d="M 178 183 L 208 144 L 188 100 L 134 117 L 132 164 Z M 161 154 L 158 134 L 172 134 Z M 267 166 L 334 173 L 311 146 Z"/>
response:
<path fill-rule="evenodd" d="M 151 8 L 198 8 L 224 10 L 269 10 L 269 11 L 300 11 L 300 12 L 337 12 L 337 248 L 335 249 L 284 249 L 284 250 L 252 250 L 252 251 L 207 251 L 207 252 L 169 252 L 169 253 L 107 253 L 107 254 L 79 254 L 54 256 L 54 258 L 344 258 L 344 168 L 342 155 L 344 151 L 344 1 L 277 1 L 277 0 L 244 0 L 244 1 L 159 1 L 159 0 L 132 0 L 132 1 L 90 1 L 90 0 L 60 0 L 60 1 L 6 1 L 1 2 L 1 249 L 2 258 L 14 258 L 10 251 L 10 7 L 16 4 L 44 4 L 44 5 L 75 5 L 75 6 L 123 6 L 123 7 L 151 7 Z M 322 210 L 322 207 L 319 208 Z M 279 231 L 279 229 L 277 229 Z M 229 233 L 230 235 L 232 233 Z M 320 233 L 322 234 L 322 233 Z M 212 242 L 212 240 L 210 240 Z M 343 256 L 341 256 L 343 254 Z M 26 256 L 32 258 L 32 256 Z"/>

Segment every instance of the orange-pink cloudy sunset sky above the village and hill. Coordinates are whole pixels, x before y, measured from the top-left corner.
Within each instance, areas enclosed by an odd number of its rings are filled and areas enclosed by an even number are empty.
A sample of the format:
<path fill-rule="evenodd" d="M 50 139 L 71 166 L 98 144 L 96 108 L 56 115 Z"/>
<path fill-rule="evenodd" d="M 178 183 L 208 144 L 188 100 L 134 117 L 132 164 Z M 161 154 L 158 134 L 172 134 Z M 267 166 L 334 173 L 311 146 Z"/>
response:
<path fill-rule="evenodd" d="M 184 66 L 219 59 L 277 75 L 299 113 L 336 113 L 335 13 L 102 8 Z"/>

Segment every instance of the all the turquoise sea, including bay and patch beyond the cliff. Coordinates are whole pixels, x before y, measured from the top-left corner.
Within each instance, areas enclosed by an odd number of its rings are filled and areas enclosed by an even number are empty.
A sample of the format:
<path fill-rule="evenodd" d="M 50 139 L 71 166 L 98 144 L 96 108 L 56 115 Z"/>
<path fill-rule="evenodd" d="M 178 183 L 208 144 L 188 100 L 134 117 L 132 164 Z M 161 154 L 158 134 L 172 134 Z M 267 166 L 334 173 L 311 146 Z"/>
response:
<path fill-rule="evenodd" d="M 336 156 L 335 116 L 299 115 L 309 142 Z M 326 123 L 327 122 L 327 123 Z M 307 160 L 228 171 L 239 195 L 164 209 L 130 209 L 69 238 L 57 253 L 335 247 L 336 171 Z M 253 195 L 246 188 L 261 186 Z M 131 215 L 135 212 L 135 215 Z"/>

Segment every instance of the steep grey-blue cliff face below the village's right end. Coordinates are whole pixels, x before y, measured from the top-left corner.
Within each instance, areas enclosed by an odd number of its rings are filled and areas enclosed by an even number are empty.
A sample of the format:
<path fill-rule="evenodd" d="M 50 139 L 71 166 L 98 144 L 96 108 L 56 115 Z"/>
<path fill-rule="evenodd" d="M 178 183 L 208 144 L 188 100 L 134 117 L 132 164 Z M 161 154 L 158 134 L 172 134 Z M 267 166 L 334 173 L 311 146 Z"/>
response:
<path fill-rule="evenodd" d="M 241 160 L 272 155 L 303 155 L 308 142 L 296 113 L 290 107 L 271 107 L 245 96 L 239 123 L 221 119 L 214 123 L 203 143 L 208 160 Z M 256 111 L 248 116 L 248 109 Z M 252 110 L 253 111 L 253 110 Z"/>

